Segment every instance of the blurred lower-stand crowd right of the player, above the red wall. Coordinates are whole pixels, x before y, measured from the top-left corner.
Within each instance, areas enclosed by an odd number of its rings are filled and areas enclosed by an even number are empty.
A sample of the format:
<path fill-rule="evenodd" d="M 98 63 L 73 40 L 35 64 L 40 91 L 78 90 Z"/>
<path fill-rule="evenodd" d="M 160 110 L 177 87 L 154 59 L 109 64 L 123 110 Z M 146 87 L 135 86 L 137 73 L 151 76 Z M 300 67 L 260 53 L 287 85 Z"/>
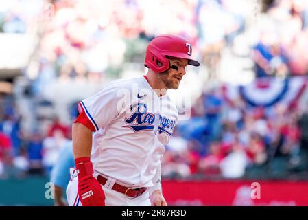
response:
<path fill-rule="evenodd" d="M 286 178 L 308 171 L 308 108 L 250 107 L 223 87 L 202 94 L 167 145 L 163 175 Z"/>

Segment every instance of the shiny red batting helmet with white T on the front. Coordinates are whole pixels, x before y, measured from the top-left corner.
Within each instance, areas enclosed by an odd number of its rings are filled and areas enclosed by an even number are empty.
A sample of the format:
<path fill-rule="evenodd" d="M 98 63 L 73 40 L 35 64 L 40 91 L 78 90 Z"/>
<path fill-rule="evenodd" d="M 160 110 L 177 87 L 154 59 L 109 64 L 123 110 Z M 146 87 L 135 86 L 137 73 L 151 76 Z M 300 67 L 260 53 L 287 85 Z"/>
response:
<path fill-rule="evenodd" d="M 147 45 L 144 65 L 154 72 L 165 72 L 170 68 L 167 56 L 173 56 L 176 58 L 185 58 L 188 60 L 189 65 L 198 67 L 200 63 L 193 60 L 191 54 L 191 44 L 182 36 L 171 34 L 159 35 Z"/>

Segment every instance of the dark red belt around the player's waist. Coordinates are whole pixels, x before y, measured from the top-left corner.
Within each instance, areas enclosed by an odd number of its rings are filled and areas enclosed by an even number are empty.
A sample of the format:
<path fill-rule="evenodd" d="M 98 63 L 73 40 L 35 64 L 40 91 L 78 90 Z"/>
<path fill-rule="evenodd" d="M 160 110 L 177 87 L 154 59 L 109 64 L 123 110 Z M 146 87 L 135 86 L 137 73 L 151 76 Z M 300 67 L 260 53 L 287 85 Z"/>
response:
<path fill-rule="evenodd" d="M 101 176 L 101 175 L 98 175 L 97 181 L 99 182 L 99 184 L 105 185 L 107 179 L 105 177 Z M 143 192 L 145 192 L 147 190 L 147 188 L 146 187 L 129 188 L 129 187 L 122 186 L 120 184 L 115 183 L 112 186 L 112 190 L 115 190 L 117 192 L 121 192 L 128 197 L 139 197 L 140 195 L 143 194 Z"/>

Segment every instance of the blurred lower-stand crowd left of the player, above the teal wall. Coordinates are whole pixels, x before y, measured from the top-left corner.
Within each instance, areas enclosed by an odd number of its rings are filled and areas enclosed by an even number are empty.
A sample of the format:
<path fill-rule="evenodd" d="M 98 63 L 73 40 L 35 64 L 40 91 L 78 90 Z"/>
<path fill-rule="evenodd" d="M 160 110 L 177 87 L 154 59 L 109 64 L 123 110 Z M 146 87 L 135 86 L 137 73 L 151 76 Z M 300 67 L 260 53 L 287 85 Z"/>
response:
<path fill-rule="evenodd" d="M 21 116 L 12 100 L 0 98 L 0 179 L 50 175 L 60 149 L 71 146 L 71 126 L 54 118 L 46 131 L 21 129 Z"/>

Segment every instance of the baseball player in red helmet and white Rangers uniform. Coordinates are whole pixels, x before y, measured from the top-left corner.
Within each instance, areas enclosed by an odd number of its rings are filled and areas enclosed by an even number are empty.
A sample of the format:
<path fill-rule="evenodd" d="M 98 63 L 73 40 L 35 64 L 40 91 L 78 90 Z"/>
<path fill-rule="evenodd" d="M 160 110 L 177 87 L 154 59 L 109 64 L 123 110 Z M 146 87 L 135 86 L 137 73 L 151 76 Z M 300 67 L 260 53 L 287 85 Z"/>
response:
<path fill-rule="evenodd" d="M 161 159 L 178 112 L 166 91 L 178 88 L 187 65 L 200 65 L 191 54 L 181 36 L 156 36 L 145 76 L 115 80 L 78 103 L 69 206 L 167 206 Z"/>

